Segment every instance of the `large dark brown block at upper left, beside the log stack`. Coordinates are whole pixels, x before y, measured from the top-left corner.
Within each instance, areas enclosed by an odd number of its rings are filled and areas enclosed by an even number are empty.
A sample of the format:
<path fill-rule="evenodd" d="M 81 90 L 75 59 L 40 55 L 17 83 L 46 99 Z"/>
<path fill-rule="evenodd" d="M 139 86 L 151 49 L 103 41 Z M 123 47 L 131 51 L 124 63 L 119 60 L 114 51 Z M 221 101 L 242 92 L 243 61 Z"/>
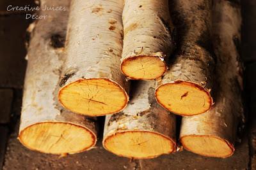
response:
<path fill-rule="evenodd" d="M 25 15 L 0 16 L 0 87 L 22 88 L 26 70 Z"/>

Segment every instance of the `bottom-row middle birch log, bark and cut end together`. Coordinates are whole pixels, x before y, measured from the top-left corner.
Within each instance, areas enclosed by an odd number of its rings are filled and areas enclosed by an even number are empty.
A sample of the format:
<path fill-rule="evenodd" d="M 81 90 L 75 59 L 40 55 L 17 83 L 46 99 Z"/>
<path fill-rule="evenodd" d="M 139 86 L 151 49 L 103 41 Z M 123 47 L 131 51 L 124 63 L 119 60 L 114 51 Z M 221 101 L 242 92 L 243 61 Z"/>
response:
<path fill-rule="evenodd" d="M 103 146 L 122 157 L 148 159 L 175 151 L 175 115 L 159 106 L 155 81 L 138 81 L 120 113 L 107 115 Z"/>

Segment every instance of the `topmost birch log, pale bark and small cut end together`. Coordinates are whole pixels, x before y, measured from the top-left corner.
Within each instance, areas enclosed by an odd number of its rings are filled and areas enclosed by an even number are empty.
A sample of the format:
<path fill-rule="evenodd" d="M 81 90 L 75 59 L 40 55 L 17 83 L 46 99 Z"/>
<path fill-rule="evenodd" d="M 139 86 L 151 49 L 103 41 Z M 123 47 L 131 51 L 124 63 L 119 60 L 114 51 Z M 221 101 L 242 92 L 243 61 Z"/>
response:
<path fill-rule="evenodd" d="M 173 49 L 168 0 L 125 0 L 121 70 L 136 80 L 161 77 Z"/>

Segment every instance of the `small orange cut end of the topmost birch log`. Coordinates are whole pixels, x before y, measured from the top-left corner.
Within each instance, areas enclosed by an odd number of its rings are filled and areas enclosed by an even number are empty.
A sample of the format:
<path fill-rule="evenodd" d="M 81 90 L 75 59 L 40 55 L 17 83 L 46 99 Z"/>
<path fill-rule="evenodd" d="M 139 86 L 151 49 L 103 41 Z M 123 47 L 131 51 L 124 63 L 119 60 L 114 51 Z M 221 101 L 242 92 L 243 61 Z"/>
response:
<path fill-rule="evenodd" d="M 161 77 L 167 67 L 156 56 L 128 57 L 121 64 L 122 73 L 134 80 L 154 80 Z"/>

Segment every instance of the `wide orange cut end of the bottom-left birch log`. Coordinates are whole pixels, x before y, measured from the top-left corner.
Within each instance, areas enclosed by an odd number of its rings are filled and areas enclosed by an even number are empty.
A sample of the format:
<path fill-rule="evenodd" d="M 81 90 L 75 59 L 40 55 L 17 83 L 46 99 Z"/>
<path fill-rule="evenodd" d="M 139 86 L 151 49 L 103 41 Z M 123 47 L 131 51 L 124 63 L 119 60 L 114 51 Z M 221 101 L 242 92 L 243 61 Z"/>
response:
<path fill-rule="evenodd" d="M 78 125 L 44 122 L 26 127 L 20 132 L 19 140 L 31 150 L 62 155 L 89 150 L 95 145 L 97 137 Z"/>

